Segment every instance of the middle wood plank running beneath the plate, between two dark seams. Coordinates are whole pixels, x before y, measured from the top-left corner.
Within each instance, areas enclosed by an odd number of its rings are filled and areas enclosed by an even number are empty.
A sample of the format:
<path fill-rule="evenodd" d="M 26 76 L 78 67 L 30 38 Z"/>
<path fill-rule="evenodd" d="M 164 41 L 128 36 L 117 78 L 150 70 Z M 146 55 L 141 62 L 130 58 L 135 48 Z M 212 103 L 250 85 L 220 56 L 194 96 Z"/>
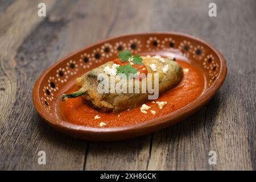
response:
<path fill-rule="evenodd" d="M 113 2 L 112 2 L 113 3 Z M 134 6 L 136 5 L 136 6 Z M 152 1 L 118 1 L 109 36 L 148 31 Z M 143 6 L 143 9 L 141 8 Z M 121 142 L 90 142 L 86 170 L 146 170 L 151 135 Z"/>

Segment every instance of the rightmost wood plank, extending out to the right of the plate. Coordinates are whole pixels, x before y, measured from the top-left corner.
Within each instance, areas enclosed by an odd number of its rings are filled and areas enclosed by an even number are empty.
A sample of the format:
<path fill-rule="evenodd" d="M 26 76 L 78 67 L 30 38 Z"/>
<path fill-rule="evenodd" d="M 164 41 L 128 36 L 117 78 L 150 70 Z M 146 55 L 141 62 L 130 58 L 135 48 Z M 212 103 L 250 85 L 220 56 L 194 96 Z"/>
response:
<path fill-rule="evenodd" d="M 208 40 L 224 54 L 228 76 L 193 117 L 154 134 L 148 169 L 255 170 L 255 1 L 217 1 L 216 18 L 208 16 L 207 1 L 161 3 L 153 29 Z M 211 150 L 217 165 L 208 163 Z"/>

